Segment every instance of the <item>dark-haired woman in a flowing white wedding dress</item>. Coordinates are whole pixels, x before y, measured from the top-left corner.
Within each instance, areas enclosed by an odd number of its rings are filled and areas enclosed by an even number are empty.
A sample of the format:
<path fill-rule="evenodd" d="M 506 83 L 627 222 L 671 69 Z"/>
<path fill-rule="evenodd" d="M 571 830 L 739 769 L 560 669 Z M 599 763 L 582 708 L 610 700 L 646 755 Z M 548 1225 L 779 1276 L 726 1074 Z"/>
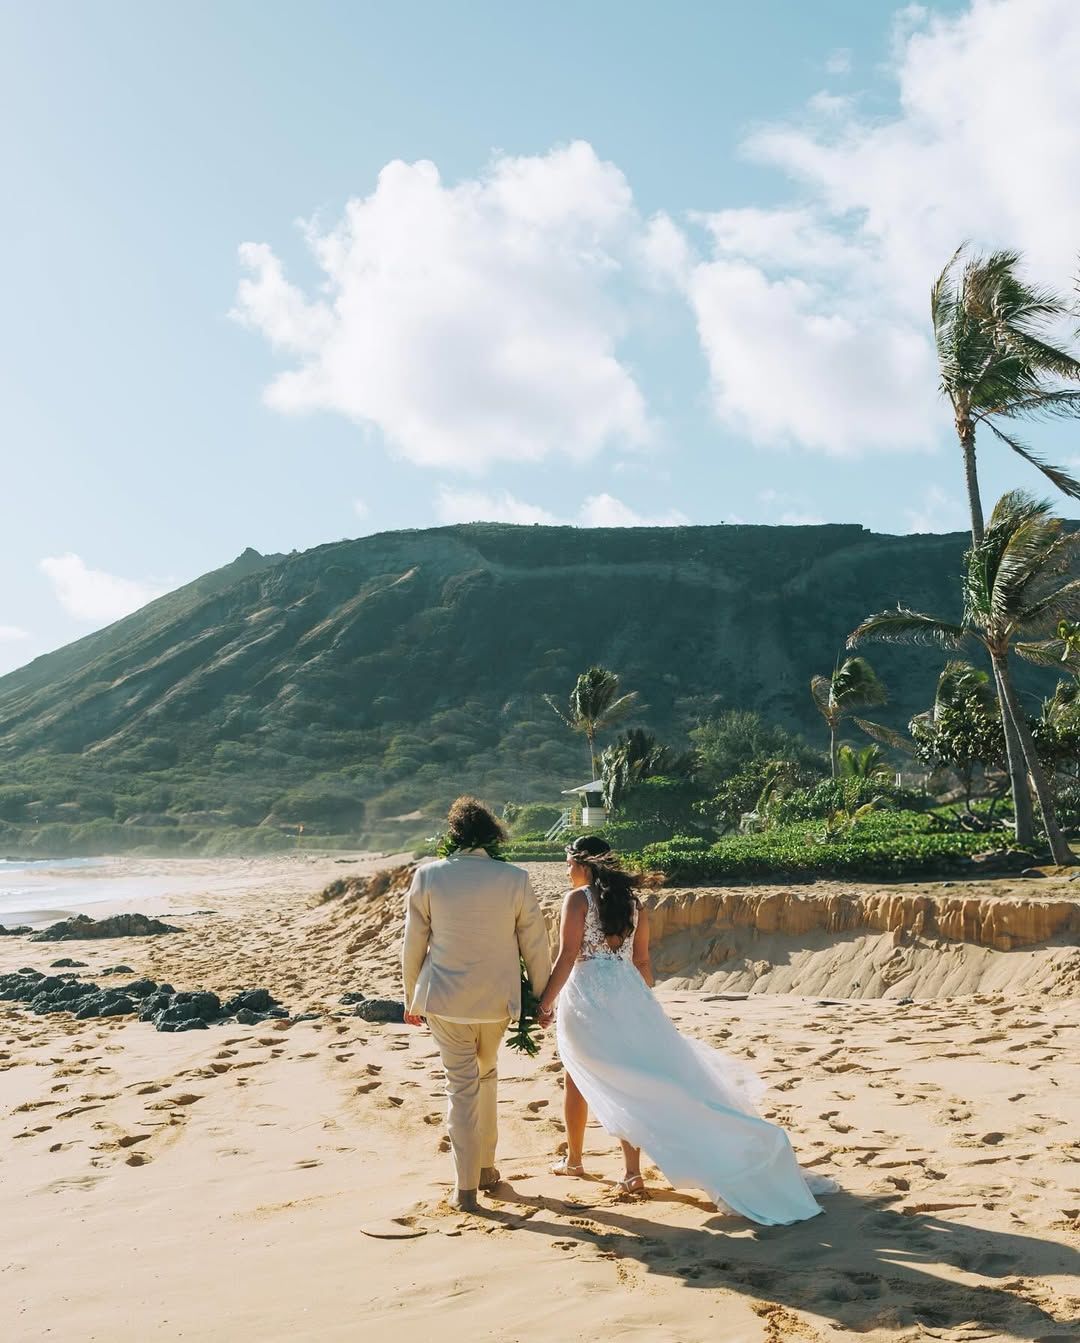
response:
<path fill-rule="evenodd" d="M 764 1085 L 744 1064 L 680 1034 L 650 992 L 649 919 L 609 845 L 583 835 L 567 847 L 574 888 L 563 902 L 559 960 L 540 999 L 566 1068 L 567 1155 L 552 1170 L 583 1175 L 592 1107 L 621 1139 L 619 1189 L 639 1193 L 641 1150 L 676 1187 L 704 1189 L 720 1206 L 766 1226 L 822 1211 L 787 1133 L 762 1119 Z M 821 1190 L 834 1187 L 821 1182 Z"/>

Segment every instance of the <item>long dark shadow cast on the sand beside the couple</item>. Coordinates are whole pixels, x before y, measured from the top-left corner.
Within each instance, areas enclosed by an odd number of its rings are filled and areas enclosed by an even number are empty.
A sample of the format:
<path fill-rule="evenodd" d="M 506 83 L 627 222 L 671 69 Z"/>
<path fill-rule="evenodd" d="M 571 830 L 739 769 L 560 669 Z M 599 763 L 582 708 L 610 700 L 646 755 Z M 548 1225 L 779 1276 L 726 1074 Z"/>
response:
<path fill-rule="evenodd" d="M 481 1215 L 508 1230 L 547 1236 L 566 1249 L 578 1242 L 686 1287 L 744 1292 L 852 1332 L 920 1326 L 944 1338 L 958 1328 L 956 1336 L 964 1339 L 1080 1338 L 1080 1319 L 1076 1312 L 1061 1317 L 1060 1299 L 1046 1281 L 1080 1273 L 1080 1253 L 1057 1241 L 969 1226 L 934 1211 L 905 1213 L 892 1206 L 897 1197 L 830 1194 L 821 1217 L 795 1226 L 755 1226 L 676 1190 L 611 1202 L 598 1182 L 556 1199 L 520 1194 L 504 1180 L 492 1199 Z M 665 1226 L 650 1219 L 650 1202 L 690 1205 L 713 1215 L 697 1229 Z M 962 1270 L 967 1280 L 938 1276 L 940 1264 Z"/>

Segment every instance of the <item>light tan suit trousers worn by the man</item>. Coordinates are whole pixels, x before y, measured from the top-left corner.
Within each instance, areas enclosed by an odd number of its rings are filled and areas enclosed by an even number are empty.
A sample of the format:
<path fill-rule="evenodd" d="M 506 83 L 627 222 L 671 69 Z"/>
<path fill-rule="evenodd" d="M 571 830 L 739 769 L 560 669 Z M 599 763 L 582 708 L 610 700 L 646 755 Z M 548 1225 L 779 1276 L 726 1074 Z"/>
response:
<path fill-rule="evenodd" d="M 498 1046 L 506 1021 L 446 1021 L 429 1017 L 446 1069 L 446 1124 L 454 1151 L 458 1189 L 476 1189 L 482 1167 L 494 1166 Z"/>

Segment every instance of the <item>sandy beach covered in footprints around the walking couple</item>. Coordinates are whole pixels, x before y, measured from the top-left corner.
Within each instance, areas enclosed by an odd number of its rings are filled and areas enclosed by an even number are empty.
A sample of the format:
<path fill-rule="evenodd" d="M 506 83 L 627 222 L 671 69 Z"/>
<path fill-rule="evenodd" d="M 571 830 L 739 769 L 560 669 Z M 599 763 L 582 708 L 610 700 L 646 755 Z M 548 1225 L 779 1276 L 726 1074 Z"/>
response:
<path fill-rule="evenodd" d="M 266 986 L 318 1017 L 161 1034 L 0 1003 L 5 1338 L 1080 1336 L 1080 951 L 1067 882 L 650 897 L 666 1009 L 752 1061 L 803 1164 L 841 1185 L 823 1215 L 766 1229 L 654 1170 L 647 1198 L 618 1197 L 615 1144 L 596 1128 L 588 1179 L 549 1174 L 561 1081 L 551 1038 L 535 1061 L 504 1050 L 504 1183 L 482 1215 L 453 1213 L 430 1035 L 368 1025 L 339 1002 L 396 995 L 400 893 L 363 880 L 384 864 L 110 865 L 152 892 L 132 905 L 125 888 L 121 907 L 181 931 L 0 937 L 0 972 L 70 956 L 94 979 L 122 963 L 180 988 Z M 533 874 L 553 916 L 561 869 Z M 361 880 L 320 898 L 343 876 Z M 958 900 L 974 931 L 950 939 Z M 866 927 L 845 927 L 853 919 Z M 1025 943 L 1025 928 L 1052 936 Z M 1007 951 L 979 944 L 1003 937 Z M 942 964 L 948 974 L 932 971 Z M 841 979 L 850 995 L 827 991 Z"/>

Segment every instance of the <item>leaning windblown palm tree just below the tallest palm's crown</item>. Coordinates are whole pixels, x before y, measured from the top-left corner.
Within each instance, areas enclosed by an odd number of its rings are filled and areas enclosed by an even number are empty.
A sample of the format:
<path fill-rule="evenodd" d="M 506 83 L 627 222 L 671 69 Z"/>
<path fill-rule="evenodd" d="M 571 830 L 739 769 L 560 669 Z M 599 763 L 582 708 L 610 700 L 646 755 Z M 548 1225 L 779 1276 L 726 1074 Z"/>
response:
<path fill-rule="evenodd" d="M 964 610 L 959 624 L 897 607 L 868 616 L 848 639 L 849 647 L 864 639 L 883 639 L 950 650 L 978 642 L 986 649 L 1034 787 L 1050 853 L 1063 866 L 1075 858 L 1057 825 L 1046 774 L 1017 700 L 1010 653 L 1042 665 L 1060 665 L 1059 622 L 1080 615 L 1080 577 L 1071 576 L 1079 547 L 1080 533 L 1064 532 L 1061 518 L 1050 516 L 1048 502 L 1010 490 L 998 500 L 983 540 L 964 557 Z"/>

